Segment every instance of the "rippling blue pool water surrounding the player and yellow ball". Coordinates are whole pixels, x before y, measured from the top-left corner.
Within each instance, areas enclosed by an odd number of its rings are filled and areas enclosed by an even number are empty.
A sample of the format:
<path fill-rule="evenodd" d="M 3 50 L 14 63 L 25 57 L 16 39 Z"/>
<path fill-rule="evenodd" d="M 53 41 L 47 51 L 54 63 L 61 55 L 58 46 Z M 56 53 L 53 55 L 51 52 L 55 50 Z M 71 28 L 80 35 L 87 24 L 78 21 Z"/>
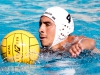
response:
<path fill-rule="evenodd" d="M 51 6 L 65 8 L 74 19 L 73 35 L 93 38 L 100 49 L 99 0 L 0 0 L 0 42 L 17 29 L 31 32 L 39 41 L 39 17 Z M 34 65 L 3 62 L 0 56 L 0 75 L 100 75 L 100 54 L 83 52 L 77 58 L 46 54 Z"/>

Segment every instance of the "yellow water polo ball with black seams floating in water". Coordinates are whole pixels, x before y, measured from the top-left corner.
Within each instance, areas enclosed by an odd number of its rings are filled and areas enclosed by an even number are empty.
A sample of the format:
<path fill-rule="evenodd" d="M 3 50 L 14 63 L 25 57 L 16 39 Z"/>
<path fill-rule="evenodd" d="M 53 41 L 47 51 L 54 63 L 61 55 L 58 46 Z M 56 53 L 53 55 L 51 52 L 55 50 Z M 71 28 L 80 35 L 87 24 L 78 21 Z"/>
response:
<path fill-rule="evenodd" d="M 24 30 L 8 33 L 2 40 L 1 50 L 4 60 L 27 64 L 34 64 L 40 53 L 35 36 Z"/>

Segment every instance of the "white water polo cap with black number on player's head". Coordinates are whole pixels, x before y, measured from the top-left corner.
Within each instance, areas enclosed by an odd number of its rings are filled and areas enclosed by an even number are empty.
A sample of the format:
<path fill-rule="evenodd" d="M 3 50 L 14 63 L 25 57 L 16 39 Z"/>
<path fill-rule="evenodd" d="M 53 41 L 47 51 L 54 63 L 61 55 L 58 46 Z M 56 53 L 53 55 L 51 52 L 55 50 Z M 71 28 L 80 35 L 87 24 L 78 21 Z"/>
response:
<path fill-rule="evenodd" d="M 48 8 L 43 15 L 52 19 L 56 25 L 54 41 L 50 47 L 60 43 L 74 31 L 73 19 L 65 9 L 54 6 Z"/>

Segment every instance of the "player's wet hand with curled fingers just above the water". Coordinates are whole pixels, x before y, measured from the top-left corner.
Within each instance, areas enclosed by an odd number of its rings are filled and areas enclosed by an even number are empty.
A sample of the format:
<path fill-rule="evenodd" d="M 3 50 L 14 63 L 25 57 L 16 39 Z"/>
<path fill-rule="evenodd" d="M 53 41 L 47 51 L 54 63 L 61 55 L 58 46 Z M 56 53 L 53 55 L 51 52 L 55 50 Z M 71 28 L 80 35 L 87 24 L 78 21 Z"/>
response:
<path fill-rule="evenodd" d="M 71 54 L 72 57 L 77 57 L 79 56 L 82 50 L 83 50 L 82 44 L 77 43 L 71 46 L 71 48 L 69 49 L 69 53 Z"/>

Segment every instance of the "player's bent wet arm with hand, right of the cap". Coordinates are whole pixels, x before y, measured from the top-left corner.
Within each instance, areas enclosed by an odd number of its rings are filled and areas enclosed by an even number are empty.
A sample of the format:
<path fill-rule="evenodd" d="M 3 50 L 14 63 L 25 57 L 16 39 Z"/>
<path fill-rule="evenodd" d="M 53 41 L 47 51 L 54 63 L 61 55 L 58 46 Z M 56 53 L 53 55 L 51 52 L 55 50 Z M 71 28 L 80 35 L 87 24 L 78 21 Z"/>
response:
<path fill-rule="evenodd" d="M 91 50 L 93 52 L 99 52 L 95 47 L 96 42 L 84 36 L 79 36 L 77 41 L 71 46 L 69 52 L 72 57 L 78 56 L 82 50 Z"/>

